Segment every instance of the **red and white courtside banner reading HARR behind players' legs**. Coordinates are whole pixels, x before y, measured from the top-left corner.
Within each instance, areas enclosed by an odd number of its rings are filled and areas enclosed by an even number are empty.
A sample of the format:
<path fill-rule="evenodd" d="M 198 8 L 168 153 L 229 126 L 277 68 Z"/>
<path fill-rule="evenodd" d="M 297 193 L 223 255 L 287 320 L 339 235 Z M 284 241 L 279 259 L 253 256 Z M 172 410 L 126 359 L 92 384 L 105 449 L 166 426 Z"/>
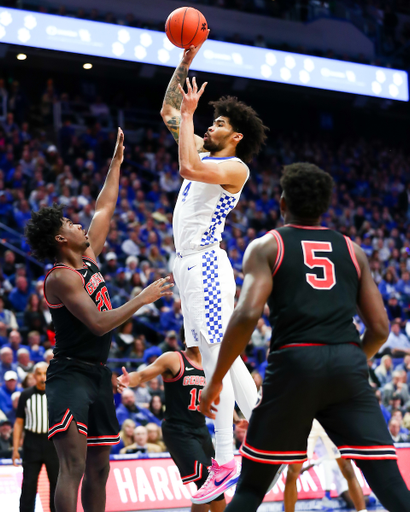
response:
<path fill-rule="evenodd" d="M 398 448 L 401 473 L 410 488 L 410 445 Z M 240 458 L 238 456 L 238 458 Z M 139 510 L 167 510 L 173 508 L 190 508 L 191 495 L 196 491 L 195 484 L 183 485 L 179 472 L 172 459 L 126 459 L 113 460 L 107 482 L 106 512 L 130 512 Z M 356 474 L 364 494 L 370 489 L 361 472 Z M 1 509 L 7 512 L 18 512 L 22 480 L 21 467 L 0 465 L 0 496 Z M 324 495 L 324 475 L 320 465 L 311 468 L 298 480 L 298 498 L 321 499 Z M 282 501 L 285 488 L 285 474 L 276 486 L 265 497 L 265 502 Z M 235 492 L 230 489 L 226 494 L 229 502 Z M 336 492 L 332 491 L 336 497 Z M 39 494 L 35 512 L 50 512 L 48 495 L 48 479 L 45 468 L 40 474 Z M 78 511 L 83 512 L 81 505 Z"/>

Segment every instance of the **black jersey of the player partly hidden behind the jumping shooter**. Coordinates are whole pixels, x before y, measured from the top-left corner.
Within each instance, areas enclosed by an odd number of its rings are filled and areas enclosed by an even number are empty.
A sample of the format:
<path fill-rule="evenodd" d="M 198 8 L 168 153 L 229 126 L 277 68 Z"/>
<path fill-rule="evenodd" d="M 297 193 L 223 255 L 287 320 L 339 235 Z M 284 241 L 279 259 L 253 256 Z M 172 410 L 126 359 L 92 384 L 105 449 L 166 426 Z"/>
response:
<path fill-rule="evenodd" d="M 199 412 L 199 401 L 204 388 L 205 373 L 190 361 L 184 352 L 178 352 L 181 369 L 173 379 L 164 379 L 165 420 L 189 427 L 203 427 L 205 416 Z"/>

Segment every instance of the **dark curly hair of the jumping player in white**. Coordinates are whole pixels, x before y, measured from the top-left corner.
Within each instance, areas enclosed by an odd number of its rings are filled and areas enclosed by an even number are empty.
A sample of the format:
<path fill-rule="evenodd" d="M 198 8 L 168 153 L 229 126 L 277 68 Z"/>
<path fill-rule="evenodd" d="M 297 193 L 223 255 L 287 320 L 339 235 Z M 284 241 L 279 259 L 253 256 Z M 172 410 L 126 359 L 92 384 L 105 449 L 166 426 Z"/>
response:
<path fill-rule="evenodd" d="M 243 139 L 236 146 L 236 155 L 244 162 L 250 162 L 265 143 L 266 131 L 262 119 L 255 110 L 239 101 L 235 96 L 222 96 L 217 101 L 210 101 L 214 108 L 215 119 L 219 116 L 229 118 L 235 132 L 243 134 Z"/>

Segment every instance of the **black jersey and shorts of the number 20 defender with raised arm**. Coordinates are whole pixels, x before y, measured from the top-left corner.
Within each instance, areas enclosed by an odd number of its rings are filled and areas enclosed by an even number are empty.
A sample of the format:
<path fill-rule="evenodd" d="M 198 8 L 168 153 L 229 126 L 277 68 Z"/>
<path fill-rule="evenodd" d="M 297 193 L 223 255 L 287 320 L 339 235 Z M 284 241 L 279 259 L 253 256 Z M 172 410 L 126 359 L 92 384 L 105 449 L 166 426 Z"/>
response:
<path fill-rule="evenodd" d="M 110 297 L 97 263 L 83 256 L 83 267 L 73 269 L 57 263 L 56 269 L 76 272 L 84 289 L 99 311 L 112 309 Z M 54 359 L 47 370 L 46 394 L 51 439 L 64 432 L 74 420 L 77 429 L 87 437 L 88 446 L 117 444 L 119 425 L 115 415 L 111 370 L 105 365 L 111 346 L 111 332 L 93 334 L 64 304 L 50 304 L 56 330 Z"/>

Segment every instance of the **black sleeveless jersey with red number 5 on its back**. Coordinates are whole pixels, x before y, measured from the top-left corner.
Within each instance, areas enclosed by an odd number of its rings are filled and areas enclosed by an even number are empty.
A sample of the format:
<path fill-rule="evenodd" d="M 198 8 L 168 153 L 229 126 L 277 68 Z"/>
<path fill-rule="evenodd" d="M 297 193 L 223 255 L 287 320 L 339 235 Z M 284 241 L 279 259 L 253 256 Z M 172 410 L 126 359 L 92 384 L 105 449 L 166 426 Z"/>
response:
<path fill-rule="evenodd" d="M 270 231 L 278 243 L 268 299 L 271 350 L 289 344 L 360 343 L 353 316 L 360 266 L 350 238 L 322 227 Z"/>

